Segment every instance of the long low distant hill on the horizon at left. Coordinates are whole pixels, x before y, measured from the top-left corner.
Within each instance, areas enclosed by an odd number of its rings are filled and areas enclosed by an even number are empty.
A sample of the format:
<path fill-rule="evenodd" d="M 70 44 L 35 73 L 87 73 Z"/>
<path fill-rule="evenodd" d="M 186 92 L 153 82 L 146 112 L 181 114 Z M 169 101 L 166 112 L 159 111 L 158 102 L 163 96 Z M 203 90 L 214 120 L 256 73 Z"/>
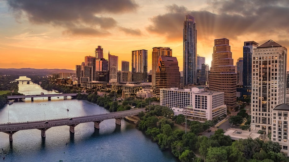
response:
<path fill-rule="evenodd" d="M 3 69 L 0 68 L 0 75 L 47 75 L 47 74 L 56 74 L 59 72 L 71 72 L 75 73 L 75 70 L 68 70 L 68 69 L 34 69 L 34 68 L 8 68 Z"/>

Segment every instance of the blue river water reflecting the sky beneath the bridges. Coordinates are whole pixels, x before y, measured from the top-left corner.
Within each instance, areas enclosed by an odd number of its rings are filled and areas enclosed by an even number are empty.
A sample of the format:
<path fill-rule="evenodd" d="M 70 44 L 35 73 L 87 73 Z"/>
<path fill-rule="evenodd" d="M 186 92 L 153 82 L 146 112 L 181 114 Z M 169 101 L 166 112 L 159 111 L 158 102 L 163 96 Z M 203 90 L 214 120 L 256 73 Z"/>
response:
<path fill-rule="evenodd" d="M 28 80 L 20 77 L 18 80 Z M 55 91 L 43 90 L 39 85 L 19 83 L 19 92 L 23 94 L 55 94 Z M 66 109 L 69 109 L 67 114 Z M 23 99 L 0 109 L 0 123 L 49 120 L 74 116 L 108 113 L 103 107 L 88 101 L 63 97 Z M 8 118 L 9 116 L 9 118 Z M 2 150 L 3 149 L 3 150 Z M 3 157 L 5 159 L 3 160 Z M 134 124 L 115 119 L 104 120 L 100 129 L 94 129 L 93 122 L 79 124 L 75 133 L 69 132 L 69 126 L 52 127 L 46 131 L 46 138 L 41 137 L 38 129 L 21 130 L 9 135 L 0 132 L 1 161 L 101 161 L 101 162 L 136 162 L 136 161 L 177 161 L 169 151 L 160 151 Z"/>

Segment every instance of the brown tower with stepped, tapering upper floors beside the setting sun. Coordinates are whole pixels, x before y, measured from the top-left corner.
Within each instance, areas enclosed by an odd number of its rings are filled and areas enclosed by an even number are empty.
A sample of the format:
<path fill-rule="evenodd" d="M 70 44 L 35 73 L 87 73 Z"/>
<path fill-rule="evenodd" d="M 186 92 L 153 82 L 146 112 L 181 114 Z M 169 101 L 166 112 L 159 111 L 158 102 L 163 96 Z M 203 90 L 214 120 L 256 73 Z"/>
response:
<path fill-rule="evenodd" d="M 212 65 L 209 74 L 211 91 L 224 92 L 224 103 L 229 110 L 237 107 L 237 74 L 227 38 L 214 40 Z"/>

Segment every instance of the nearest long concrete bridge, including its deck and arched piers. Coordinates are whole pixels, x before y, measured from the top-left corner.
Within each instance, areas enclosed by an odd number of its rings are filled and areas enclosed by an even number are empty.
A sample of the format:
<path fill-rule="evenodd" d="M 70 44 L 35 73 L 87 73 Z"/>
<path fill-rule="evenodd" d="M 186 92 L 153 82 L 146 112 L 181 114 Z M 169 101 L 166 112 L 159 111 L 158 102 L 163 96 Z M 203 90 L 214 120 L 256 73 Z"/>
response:
<path fill-rule="evenodd" d="M 9 134 L 9 140 L 13 141 L 12 135 L 20 130 L 39 129 L 41 130 L 41 136 L 45 138 L 45 131 L 51 127 L 68 125 L 69 131 L 71 133 L 74 133 L 74 128 L 76 125 L 79 125 L 80 123 L 94 122 L 94 128 L 99 129 L 99 124 L 103 120 L 115 119 L 115 124 L 121 125 L 121 119 L 123 117 L 138 115 L 138 113 L 142 111 L 145 111 L 145 109 L 126 110 L 120 112 L 111 112 L 107 114 L 79 116 L 73 118 L 0 124 L 0 132 Z"/>

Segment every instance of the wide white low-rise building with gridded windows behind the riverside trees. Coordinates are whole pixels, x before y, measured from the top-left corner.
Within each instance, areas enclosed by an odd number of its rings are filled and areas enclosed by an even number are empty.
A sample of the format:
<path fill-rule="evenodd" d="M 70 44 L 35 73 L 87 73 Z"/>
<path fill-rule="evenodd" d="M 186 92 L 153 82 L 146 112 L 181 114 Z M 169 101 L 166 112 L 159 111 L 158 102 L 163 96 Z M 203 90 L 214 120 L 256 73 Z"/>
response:
<path fill-rule="evenodd" d="M 226 114 L 224 92 L 203 91 L 203 88 L 194 87 L 180 90 L 165 88 L 160 91 L 160 105 L 170 108 L 180 107 L 189 120 L 204 122 Z M 186 110 L 187 109 L 187 110 Z"/>

